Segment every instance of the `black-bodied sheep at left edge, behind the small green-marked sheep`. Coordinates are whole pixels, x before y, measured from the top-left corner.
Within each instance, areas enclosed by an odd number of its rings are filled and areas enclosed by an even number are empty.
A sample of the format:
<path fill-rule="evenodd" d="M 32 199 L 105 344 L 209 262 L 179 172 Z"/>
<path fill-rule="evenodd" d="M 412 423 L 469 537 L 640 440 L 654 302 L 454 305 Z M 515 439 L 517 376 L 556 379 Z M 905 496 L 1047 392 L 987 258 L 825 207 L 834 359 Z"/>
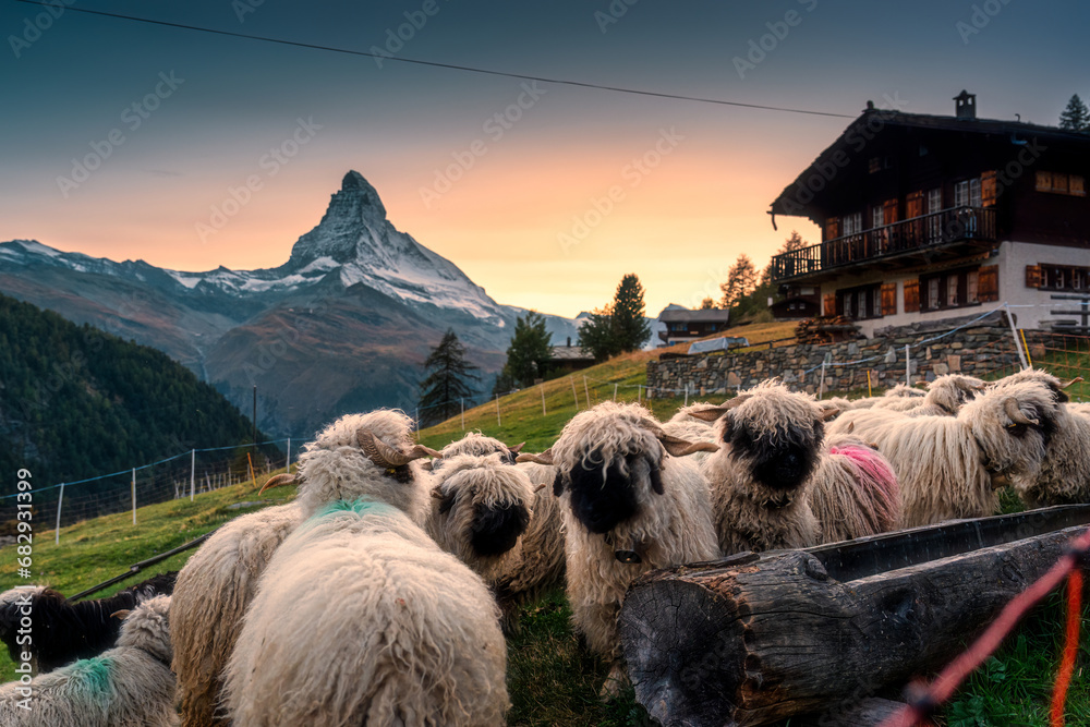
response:
<path fill-rule="evenodd" d="M 70 602 L 58 591 L 43 586 L 12 589 L 0 594 L 0 641 L 13 662 L 26 651 L 19 645 L 23 616 L 31 619 L 31 663 L 45 674 L 80 658 L 97 656 L 113 646 L 121 622 L 110 614 L 133 608 L 156 595 L 170 595 L 178 572 L 160 573 L 97 601 Z"/>

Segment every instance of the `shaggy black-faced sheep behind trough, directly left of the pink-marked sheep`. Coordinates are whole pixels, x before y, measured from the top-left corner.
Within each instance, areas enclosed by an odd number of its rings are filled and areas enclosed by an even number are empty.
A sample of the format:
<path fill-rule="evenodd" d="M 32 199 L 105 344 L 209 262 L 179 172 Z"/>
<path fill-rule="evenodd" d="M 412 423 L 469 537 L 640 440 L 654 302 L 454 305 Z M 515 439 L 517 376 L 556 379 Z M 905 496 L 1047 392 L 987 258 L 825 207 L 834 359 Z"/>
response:
<path fill-rule="evenodd" d="M 828 412 L 772 379 L 693 414 L 715 422 L 720 444 L 701 473 L 712 489 L 723 554 L 816 545 L 808 489 Z"/>

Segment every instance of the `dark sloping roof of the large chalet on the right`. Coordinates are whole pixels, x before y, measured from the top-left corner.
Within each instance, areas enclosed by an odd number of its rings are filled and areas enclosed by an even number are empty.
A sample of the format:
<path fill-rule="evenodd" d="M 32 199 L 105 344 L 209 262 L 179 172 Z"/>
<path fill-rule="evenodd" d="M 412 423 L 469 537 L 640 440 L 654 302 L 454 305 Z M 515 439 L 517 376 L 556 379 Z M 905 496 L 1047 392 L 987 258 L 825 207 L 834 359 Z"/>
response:
<path fill-rule="evenodd" d="M 993 138 L 1007 137 L 1012 145 L 1025 145 L 1031 137 L 1037 137 L 1045 143 L 1051 140 L 1090 149 L 1090 134 L 1066 131 L 1056 126 L 1000 119 L 959 119 L 929 113 L 868 109 L 848 124 L 844 132 L 773 201 L 770 209 L 770 214 L 773 216 L 773 226 L 775 227 L 776 215 L 804 216 L 807 214 L 806 205 L 800 206 L 796 198 L 798 190 L 804 187 L 807 182 L 812 181 L 815 175 L 827 180 L 828 174 L 827 172 L 823 173 L 823 170 L 829 169 L 828 165 L 833 165 L 833 169 L 844 166 L 845 157 L 843 155 L 847 154 L 849 158 L 853 154 L 858 155 L 863 150 L 860 146 L 862 142 L 873 138 L 891 128 L 981 134 Z M 836 163 L 837 159 L 840 161 L 839 165 Z"/>

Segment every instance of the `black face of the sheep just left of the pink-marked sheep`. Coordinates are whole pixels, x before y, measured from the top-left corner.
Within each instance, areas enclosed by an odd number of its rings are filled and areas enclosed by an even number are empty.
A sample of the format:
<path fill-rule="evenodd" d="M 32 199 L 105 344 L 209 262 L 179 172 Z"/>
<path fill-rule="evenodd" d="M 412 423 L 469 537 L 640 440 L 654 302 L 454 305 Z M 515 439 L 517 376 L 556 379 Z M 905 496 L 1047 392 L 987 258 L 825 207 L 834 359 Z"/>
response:
<path fill-rule="evenodd" d="M 801 426 L 791 422 L 764 427 L 728 415 L 723 428 L 730 456 L 746 460 L 756 482 L 778 492 L 806 484 L 818 465 L 824 436 L 825 425 L 818 419 Z"/>

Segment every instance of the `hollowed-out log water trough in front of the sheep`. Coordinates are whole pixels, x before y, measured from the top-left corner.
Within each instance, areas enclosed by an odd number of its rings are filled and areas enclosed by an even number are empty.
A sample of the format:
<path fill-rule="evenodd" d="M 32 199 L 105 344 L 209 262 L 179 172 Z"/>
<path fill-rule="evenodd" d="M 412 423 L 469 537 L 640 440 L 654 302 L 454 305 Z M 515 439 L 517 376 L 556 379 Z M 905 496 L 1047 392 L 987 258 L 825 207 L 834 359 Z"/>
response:
<path fill-rule="evenodd" d="M 865 724 L 835 713 L 944 666 L 1087 523 L 1059 506 L 653 571 L 620 613 L 637 699 L 666 727 Z"/>

